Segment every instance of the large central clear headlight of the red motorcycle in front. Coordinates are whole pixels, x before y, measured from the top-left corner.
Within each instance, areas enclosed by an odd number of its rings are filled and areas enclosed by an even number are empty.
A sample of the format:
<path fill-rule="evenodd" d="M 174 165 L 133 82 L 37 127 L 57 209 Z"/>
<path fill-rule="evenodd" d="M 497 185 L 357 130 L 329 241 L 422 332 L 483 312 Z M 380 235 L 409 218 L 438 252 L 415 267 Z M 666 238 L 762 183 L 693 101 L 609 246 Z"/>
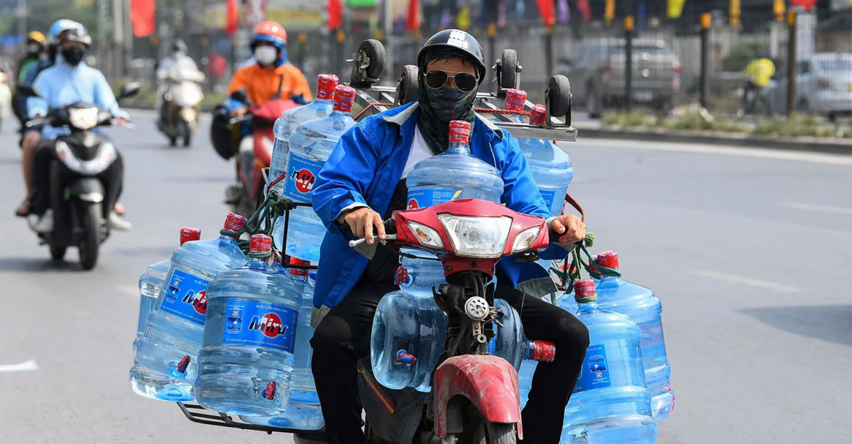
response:
<path fill-rule="evenodd" d="M 450 236 L 452 249 L 463 257 L 501 257 L 512 227 L 509 216 L 480 217 L 439 215 Z"/>

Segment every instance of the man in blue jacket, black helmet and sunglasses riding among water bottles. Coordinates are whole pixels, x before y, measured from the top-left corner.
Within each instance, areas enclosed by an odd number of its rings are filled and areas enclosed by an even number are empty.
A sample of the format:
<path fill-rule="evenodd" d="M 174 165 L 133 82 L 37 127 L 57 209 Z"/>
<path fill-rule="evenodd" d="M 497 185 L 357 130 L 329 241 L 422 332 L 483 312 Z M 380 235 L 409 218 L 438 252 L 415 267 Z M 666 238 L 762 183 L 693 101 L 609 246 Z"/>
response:
<path fill-rule="evenodd" d="M 471 153 L 500 171 L 503 203 L 548 218 L 551 230 L 561 234 L 559 244 L 544 251 L 543 258 L 565 257 L 563 245 L 577 243 L 585 234 L 578 217 L 550 215 L 515 139 L 475 114 L 476 89 L 486 74 L 475 38 L 458 30 L 438 32 L 420 50 L 417 66 L 417 102 L 366 118 L 348 130 L 320 170 L 311 194 L 314 210 L 329 230 L 320 250 L 311 344 L 314 381 L 332 444 L 366 442 L 360 430 L 357 361 L 370 352 L 379 301 L 399 289 L 393 278 L 399 265 L 396 253 L 379 245 L 373 260 L 360 257 L 348 248 L 344 224 L 368 244 L 383 239 L 383 218 L 406 209 L 407 172 L 417 161 L 446 150 L 451 120 L 473 124 Z M 534 263 L 500 262 L 496 297 L 521 314 L 527 337 L 556 343 L 556 360 L 538 364 L 522 421 L 524 441 L 557 444 L 589 336 L 567 311 L 515 289 L 533 276 L 546 273 Z"/>

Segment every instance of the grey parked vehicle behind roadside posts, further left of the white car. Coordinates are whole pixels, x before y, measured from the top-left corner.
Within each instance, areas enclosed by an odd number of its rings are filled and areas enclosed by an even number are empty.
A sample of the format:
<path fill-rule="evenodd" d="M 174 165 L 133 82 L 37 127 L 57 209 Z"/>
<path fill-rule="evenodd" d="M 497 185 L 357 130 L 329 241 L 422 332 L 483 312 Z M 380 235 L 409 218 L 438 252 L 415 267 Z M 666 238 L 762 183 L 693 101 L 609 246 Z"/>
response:
<path fill-rule="evenodd" d="M 632 101 L 667 112 L 681 87 L 681 64 L 665 40 L 633 40 Z M 573 58 L 559 62 L 560 73 L 571 79 L 573 100 L 584 103 L 590 117 L 625 101 L 625 39 L 585 40 Z"/>

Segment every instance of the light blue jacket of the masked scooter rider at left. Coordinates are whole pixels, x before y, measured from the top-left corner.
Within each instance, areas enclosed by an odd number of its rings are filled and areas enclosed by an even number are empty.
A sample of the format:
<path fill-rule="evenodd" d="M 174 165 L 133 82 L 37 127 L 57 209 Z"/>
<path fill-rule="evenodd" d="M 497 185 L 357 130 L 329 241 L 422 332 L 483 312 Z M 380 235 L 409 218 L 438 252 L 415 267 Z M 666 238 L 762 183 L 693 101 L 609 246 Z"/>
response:
<path fill-rule="evenodd" d="M 107 78 L 84 61 L 78 66 L 71 66 L 61 55 L 56 55 L 54 66 L 39 72 L 32 88 L 39 96 L 26 99 L 29 118 L 37 114 L 47 115 L 49 109 L 65 107 L 75 101 L 94 103 L 99 108 L 111 111 L 115 117 L 128 118 L 127 113 L 118 107 Z M 67 132 L 66 128 L 44 125 L 42 137 L 55 139 Z"/>

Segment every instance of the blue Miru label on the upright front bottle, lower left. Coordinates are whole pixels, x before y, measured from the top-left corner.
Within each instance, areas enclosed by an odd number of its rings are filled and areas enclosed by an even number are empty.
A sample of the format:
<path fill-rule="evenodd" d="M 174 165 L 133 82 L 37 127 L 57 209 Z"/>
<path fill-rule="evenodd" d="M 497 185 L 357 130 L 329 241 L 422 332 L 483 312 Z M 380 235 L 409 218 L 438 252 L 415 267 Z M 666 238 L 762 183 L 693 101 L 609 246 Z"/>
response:
<path fill-rule="evenodd" d="M 258 345 L 293 353 L 298 312 L 273 303 L 229 300 L 222 343 Z"/>

